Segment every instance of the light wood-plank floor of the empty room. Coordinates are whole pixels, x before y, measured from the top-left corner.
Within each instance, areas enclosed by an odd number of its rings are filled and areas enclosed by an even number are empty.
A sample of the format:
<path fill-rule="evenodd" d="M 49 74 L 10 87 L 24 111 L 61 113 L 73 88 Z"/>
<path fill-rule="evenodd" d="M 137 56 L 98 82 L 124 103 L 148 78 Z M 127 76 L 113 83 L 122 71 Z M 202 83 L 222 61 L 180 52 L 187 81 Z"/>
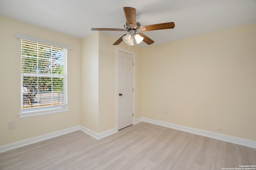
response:
<path fill-rule="evenodd" d="M 222 170 L 256 165 L 256 149 L 150 123 L 96 140 L 82 131 L 0 153 L 1 170 Z"/>

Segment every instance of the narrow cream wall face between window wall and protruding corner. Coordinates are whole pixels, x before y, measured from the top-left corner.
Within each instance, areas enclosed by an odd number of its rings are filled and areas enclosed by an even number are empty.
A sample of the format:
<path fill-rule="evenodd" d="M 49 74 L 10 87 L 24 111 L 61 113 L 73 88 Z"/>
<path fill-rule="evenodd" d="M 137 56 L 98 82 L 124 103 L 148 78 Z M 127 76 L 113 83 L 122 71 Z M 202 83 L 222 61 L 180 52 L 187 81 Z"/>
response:
<path fill-rule="evenodd" d="M 81 125 L 99 133 L 99 32 L 82 39 Z"/>

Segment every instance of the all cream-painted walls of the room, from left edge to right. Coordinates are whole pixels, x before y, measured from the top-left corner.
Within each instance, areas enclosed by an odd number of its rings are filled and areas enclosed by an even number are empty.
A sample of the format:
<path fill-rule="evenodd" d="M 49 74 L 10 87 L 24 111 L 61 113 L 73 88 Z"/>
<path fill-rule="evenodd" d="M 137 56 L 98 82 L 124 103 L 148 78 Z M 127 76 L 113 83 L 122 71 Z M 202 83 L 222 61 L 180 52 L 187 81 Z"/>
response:
<path fill-rule="evenodd" d="M 96 133 L 115 127 L 116 38 L 97 31 L 80 40 L 2 16 L 0 24 L 0 145 L 76 125 Z M 118 45 L 136 54 L 135 119 L 256 141 L 255 30 L 251 24 L 144 49 Z M 15 33 L 73 47 L 68 51 L 70 111 L 19 118 L 20 39 Z M 16 121 L 15 129 L 8 129 L 10 121 Z"/>

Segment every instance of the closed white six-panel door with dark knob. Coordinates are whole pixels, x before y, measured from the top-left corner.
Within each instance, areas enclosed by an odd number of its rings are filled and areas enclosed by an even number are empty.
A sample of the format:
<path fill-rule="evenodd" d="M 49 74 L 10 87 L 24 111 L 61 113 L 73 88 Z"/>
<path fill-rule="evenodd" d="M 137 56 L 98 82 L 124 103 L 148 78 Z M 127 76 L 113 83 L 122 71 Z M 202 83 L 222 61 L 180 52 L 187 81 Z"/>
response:
<path fill-rule="evenodd" d="M 118 51 L 118 130 L 133 121 L 133 55 Z"/>

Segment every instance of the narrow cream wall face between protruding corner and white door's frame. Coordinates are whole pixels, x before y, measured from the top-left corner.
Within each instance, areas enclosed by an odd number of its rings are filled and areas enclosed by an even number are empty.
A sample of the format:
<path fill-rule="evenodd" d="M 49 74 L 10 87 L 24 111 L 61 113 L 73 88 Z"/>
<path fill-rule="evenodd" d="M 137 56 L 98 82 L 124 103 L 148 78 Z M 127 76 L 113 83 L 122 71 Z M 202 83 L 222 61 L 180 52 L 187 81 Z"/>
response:
<path fill-rule="evenodd" d="M 115 128 L 116 53 L 113 38 L 99 32 L 99 131 Z"/>

